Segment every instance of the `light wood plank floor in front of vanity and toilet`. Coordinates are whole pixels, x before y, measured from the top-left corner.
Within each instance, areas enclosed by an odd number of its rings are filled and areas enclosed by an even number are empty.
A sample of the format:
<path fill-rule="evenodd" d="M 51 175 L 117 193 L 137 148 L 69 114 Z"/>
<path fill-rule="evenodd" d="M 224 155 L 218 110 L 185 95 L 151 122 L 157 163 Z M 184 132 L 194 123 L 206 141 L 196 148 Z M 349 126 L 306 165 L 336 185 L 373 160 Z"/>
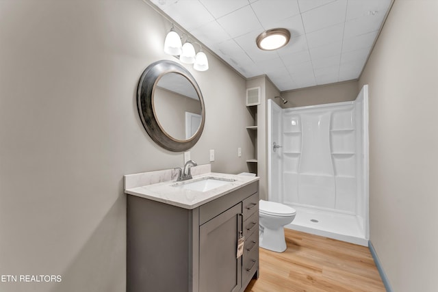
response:
<path fill-rule="evenodd" d="M 287 250 L 260 248 L 260 276 L 245 292 L 386 291 L 370 250 L 285 228 Z"/>

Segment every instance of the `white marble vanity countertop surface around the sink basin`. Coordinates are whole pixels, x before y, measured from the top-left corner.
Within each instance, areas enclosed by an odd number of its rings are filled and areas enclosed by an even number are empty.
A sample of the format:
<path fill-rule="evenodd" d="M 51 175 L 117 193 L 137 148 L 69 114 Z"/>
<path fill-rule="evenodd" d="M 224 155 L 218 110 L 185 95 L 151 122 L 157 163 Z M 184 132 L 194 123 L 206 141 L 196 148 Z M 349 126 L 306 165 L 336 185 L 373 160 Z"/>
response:
<path fill-rule="evenodd" d="M 214 178 L 224 178 L 226 180 L 231 179 L 235 181 L 231 181 L 226 185 L 216 187 L 215 189 L 211 189 L 209 191 L 194 191 L 172 186 L 175 184 L 180 185 L 181 183 L 190 183 L 190 181 L 197 181 L 209 176 Z M 154 183 L 151 185 L 142 185 L 140 187 L 131 187 L 128 189 L 125 188 L 125 193 L 150 200 L 155 200 L 157 202 L 164 202 L 166 204 L 171 204 L 185 209 L 195 209 L 202 204 L 229 194 L 231 193 L 231 191 L 235 191 L 235 189 L 239 189 L 240 187 L 249 185 L 250 183 L 258 180 L 259 177 L 257 176 L 242 176 L 237 174 L 207 172 L 193 176 L 192 180 L 190 181 L 177 182 L 175 180 L 172 180 L 164 181 L 161 183 Z"/>

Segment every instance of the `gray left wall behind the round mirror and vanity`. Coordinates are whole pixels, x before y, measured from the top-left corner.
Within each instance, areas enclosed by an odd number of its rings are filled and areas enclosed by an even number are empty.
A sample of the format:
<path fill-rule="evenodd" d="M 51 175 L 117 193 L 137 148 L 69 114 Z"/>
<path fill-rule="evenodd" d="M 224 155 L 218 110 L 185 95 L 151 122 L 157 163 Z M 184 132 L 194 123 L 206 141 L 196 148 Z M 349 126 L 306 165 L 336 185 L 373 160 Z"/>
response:
<path fill-rule="evenodd" d="M 176 60 L 170 23 L 141 0 L 21 0 L 0 1 L 0 27 L 0 274 L 62 276 L 0 291 L 125 291 L 123 175 L 183 164 L 136 108 L 144 68 Z M 247 171 L 246 81 L 207 55 L 187 67 L 207 112 L 192 159 L 215 149 L 214 171 Z"/>

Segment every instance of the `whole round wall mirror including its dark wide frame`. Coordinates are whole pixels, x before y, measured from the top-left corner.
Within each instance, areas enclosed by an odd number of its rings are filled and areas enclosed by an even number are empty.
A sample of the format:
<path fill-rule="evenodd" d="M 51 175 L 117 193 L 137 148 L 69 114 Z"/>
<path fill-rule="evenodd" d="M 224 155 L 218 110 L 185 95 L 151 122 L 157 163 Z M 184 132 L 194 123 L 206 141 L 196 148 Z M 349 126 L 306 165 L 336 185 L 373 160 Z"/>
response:
<path fill-rule="evenodd" d="M 194 77 L 176 62 L 157 61 L 144 70 L 137 107 L 144 129 L 163 148 L 185 151 L 201 137 L 203 96 Z"/>

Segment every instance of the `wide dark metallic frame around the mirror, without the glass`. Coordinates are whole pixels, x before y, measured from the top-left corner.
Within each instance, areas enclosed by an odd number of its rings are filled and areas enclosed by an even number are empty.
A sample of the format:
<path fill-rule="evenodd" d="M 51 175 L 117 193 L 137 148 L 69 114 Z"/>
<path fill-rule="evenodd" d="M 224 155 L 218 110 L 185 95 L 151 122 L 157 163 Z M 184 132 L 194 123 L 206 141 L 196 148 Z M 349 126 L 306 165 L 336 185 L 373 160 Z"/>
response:
<path fill-rule="evenodd" d="M 201 124 L 199 125 L 198 131 L 196 131 L 196 133 L 188 140 L 178 140 L 166 133 L 166 131 L 160 126 L 159 120 L 157 120 L 157 116 L 155 116 L 155 111 L 153 109 L 153 94 L 155 86 L 163 75 L 170 72 L 179 73 L 188 79 L 188 81 L 192 83 L 194 90 L 196 90 L 199 101 L 201 102 Z M 138 82 L 137 108 L 140 120 L 142 120 L 146 132 L 155 143 L 167 150 L 174 152 L 188 150 L 198 142 L 203 133 L 205 124 L 205 107 L 201 89 L 192 74 L 177 62 L 160 60 L 153 62 L 143 71 L 140 81 Z"/>

